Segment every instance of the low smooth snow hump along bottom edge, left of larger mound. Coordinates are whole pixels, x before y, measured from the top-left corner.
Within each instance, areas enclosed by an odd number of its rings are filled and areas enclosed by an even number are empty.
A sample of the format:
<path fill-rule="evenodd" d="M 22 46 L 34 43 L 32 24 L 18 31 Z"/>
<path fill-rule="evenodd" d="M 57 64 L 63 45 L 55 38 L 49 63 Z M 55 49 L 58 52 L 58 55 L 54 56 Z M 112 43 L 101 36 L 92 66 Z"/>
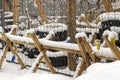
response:
<path fill-rule="evenodd" d="M 17 77 L 14 80 L 73 80 L 69 77 L 60 74 L 26 74 Z"/>

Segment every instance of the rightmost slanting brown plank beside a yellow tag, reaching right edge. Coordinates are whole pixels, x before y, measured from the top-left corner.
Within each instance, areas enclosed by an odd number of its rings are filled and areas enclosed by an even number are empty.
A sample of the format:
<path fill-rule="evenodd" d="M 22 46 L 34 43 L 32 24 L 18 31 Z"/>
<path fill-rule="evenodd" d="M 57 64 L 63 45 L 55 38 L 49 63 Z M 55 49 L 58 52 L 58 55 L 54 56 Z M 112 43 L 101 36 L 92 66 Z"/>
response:
<path fill-rule="evenodd" d="M 104 40 L 106 41 L 107 45 L 110 47 L 111 51 L 115 54 L 116 58 L 118 60 L 120 60 L 120 51 L 117 48 L 116 45 L 112 44 L 109 40 L 108 40 L 108 35 L 104 36 Z"/>

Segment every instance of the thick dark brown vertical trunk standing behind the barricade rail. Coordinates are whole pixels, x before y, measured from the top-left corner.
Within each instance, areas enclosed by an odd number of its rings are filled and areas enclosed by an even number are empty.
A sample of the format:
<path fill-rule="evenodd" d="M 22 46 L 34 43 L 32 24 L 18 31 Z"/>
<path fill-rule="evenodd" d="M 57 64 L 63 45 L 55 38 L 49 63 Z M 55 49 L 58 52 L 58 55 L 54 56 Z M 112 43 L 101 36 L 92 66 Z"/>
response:
<path fill-rule="evenodd" d="M 76 0 L 67 0 L 67 24 L 68 24 L 68 36 L 72 42 L 75 42 L 76 34 Z M 70 70 L 76 70 L 76 61 L 73 58 L 73 54 L 68 54 L 68 67 Z"/>

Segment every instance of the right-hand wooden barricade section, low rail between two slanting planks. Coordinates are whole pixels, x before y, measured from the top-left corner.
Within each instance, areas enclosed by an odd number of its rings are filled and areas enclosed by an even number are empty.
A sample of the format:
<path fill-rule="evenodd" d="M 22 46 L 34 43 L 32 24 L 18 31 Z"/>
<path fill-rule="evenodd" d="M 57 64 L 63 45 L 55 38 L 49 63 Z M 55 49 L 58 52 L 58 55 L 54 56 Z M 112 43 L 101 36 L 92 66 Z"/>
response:
<path fill-rule="evenodd" d="M 108 35 L 104 36 L 104 40 L 106 41 L 107 45 L 109 46 L 111 52 L 115 55 L 115 57 L 107 57 L 104 55 L 99 55 L 99 56 L 95 55 L 95 52 L 92 50 L 92 46 L 90 45 L 90 43 L 84 37 L 82 37 L 82 39 L 83 39 L 82 43 L 85 46 L 85 50 L 89 54 L 89 57 L 91 58 L 91 60 L 93 62 L 99 62 L 100 59 L 102 59 L 102 58 L 104 58 L 106 60 L 120 60 L 120 51 L 116 45 L 112 44 L 108 40 Z M 84 47 L 84 46 L 82 46 L 82 47 Z"/>

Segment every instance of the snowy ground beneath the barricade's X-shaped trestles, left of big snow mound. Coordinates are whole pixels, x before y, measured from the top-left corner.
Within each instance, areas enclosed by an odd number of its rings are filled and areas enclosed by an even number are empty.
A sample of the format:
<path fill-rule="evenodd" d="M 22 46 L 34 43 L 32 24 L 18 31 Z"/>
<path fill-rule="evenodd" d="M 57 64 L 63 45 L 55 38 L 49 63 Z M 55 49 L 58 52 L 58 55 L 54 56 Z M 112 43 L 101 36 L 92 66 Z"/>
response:
<path fill-rule="evenodd" d="M 72 77 L 51 74 L 47 71 L 39 70 L 37 73 L 29 73 L 28 70 L 21 70 L 18 64 L 4 61 L 0 70 L 0 80 L 73 80 Z"/>

